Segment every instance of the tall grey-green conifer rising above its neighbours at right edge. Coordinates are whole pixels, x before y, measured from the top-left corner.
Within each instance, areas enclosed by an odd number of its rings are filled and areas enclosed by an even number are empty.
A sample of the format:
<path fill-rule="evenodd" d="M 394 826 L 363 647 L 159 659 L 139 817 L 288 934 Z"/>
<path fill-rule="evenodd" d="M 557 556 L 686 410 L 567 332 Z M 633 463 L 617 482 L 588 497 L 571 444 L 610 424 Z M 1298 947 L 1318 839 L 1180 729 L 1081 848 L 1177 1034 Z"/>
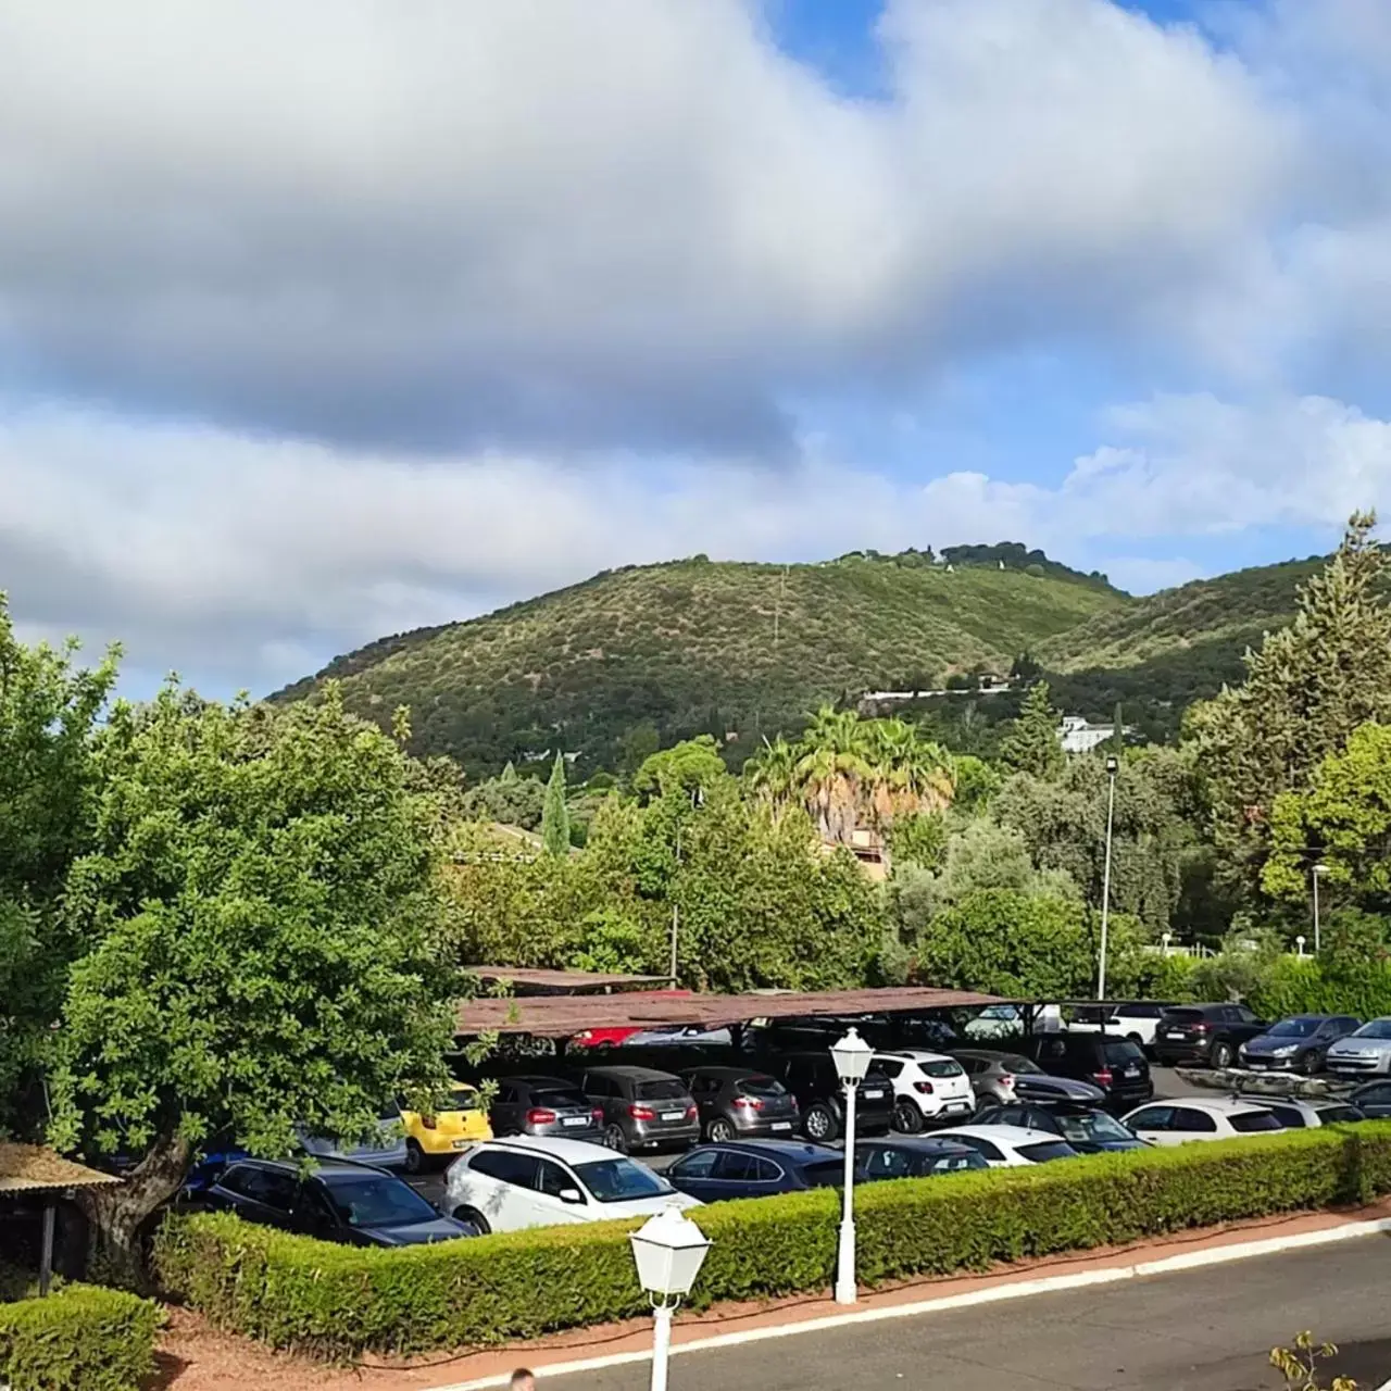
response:
<path fill-rule="evenodd" d="M 1353 513 L 1327 568 L 1299 588 L 1295 620 L 1246 654 L 1241 686 L 1189 715 L 1213 835 L 1248 887 L 1281 793 L 1306 791 L 1359 725 L 1391 721 L 1388 561 L 1374 526 L 1374 513 Z"/>

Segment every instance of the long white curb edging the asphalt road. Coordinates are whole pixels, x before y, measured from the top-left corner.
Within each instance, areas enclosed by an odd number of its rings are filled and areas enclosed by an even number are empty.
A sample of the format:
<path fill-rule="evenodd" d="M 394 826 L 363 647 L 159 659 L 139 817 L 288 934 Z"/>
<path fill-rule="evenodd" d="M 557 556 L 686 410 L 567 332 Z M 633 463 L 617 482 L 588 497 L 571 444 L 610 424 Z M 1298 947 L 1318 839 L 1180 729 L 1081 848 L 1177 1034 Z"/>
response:
<path fill-rule="evenodd" d="M 1015 1280 L 1010 1284 L 992 1285 L 985 1289 L 968 1289 L 957 1295 L 942 1295 L 936 1299 L 919 1299 L 914 1303 L 887 1305 L 881 1309 L 860 1309 L 853 1313 L 825 1314 L 819 1319 L 773 1324 L 764 1328 L 744 1328 L 737 1333 L 718 1333 L 707 1338 L 693 1338 L 689 1342 L 673 1342 L 670 1355 L 687 1352 L 711 1352 L 718 1348 L 736 1348 L 750 1342 L 764 1342 L 771 1338 L 794 1338 L 803 1333 L 823 1333 L 829 1328 L 844 1328 L 851 1324 L 882 1323 L 887 1319 L 912 1319 L 919 1314 L 940 1313 L 949 1309 L 968 1309 L 974 1305 L 1002 1303 L 1007 1299 L 1024 1299 L 1029 1295 L 1057 1294 L 1064 1289 L 1082 1289 L 1088 1285 L 1120 1284 L 1124 1280 L 1139 1280 L 1145 1276 L 1166 1276 L 1178 1270 L 1196 1270 L 1202 1266 L 1221 1266 L 1234 1260 L 1251 1260 L 1257 1256 L 1274 1256 L 1285 1251 L 1299 1251 L 1306 1246 L 1328 1246 L 1340 1241 L 1355 1241 L 1360 1237 L 1376 1237 L 1391 1232 L 1391 1217 L 1372 1221 L 1349 1221 L 1341 1227 L 1326 1227 L 1319 1231 L 1292 1232 L 1285 1237 L 1266 1237 L 1260 1241 L 1241 1241 L 1207 1251 L 1191 1251 L 1177 1256 L 1161 1256 L 1156 1260 L 1139 1260 L 1129 1266 L 1107 1266 L 1100 1270 L 1081 1270 L 1067 1276 L 1040 1276 L 1036 1280 Z M 576 1358 L 572 1362 L 552 1362 L 534 1369 L 537 1381 L 551 1377 L 573 1376 L 579 1372 L 602 1372 L 606 1367 L 627 1366 L 634 1362 L 651 1362 L 651 1349 L 638 1352 L 613 1352 L 605 1356 Z M 508 1373 L 480 1377 L 476 1381 L 458 1381 L 451 1385 L 434 1387 L 431 1391 L 491 1391 L 506 1387 Z M 1391 1381 L 1378 1391 L 1391 1391 Z"/>

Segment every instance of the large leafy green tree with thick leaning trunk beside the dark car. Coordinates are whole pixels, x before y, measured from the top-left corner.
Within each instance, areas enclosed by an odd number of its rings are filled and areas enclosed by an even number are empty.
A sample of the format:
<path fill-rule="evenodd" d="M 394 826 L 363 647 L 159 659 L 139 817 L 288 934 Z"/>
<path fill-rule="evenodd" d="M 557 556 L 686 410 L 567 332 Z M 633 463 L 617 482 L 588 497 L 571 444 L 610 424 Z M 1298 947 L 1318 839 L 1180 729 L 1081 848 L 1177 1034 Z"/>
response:
<path fill-rule="evenodd" d="M 131 1160 L 85 1203 L 95 1255 L 135 1277 L 142 1227 L 204 1142 L 366 1136 L 398 1089 L 444 1085 L 458 990 L 433 811 L 335 687 L 275 712 L 168 686 L 114 708 L 97 758 L 49 1131 Z"/>

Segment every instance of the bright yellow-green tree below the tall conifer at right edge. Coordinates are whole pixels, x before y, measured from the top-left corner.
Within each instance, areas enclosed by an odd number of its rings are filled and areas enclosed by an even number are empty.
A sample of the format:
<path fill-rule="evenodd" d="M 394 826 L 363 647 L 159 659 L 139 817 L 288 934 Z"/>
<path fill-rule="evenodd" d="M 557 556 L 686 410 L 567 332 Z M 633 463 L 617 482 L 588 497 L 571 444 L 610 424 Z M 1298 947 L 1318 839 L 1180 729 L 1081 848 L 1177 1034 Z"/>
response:
<path fill-rule="evenodd" d="M 1262 887 L 1302 903 L 1314 862 L 1359 904 L 1391 908 L 1391 725 L 1360 725 L 1308 787 L 1276 798 Z"/>

